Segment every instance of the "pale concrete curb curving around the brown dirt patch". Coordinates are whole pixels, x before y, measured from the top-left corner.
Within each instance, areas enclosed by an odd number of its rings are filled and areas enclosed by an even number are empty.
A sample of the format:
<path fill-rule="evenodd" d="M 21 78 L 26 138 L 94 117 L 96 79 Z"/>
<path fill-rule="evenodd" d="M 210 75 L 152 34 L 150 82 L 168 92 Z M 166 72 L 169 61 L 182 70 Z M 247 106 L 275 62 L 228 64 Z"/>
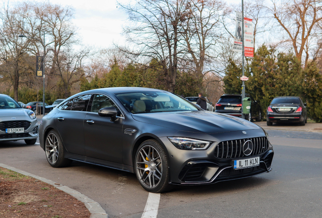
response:
<path fill-rule="evenodd" d="M 87 209 L 91 213 L 90 218 L 108 218 L 108 214 L 101 207 L 101 205 L 99 203 L 97 203 L 96 201 L 90 199 L 89 197 L 87 197 L 86 195 L 82 194 L 81 192 L 73 190 L 73 189 L 71 189 L 71 188 L 69 188 L 67 186 L 60 185 L 60 184 L 58 184 L 58 183 L 56 183 L 54 181 L 51 181 L 49 179 L 39 177 L 39 176 L 30 174 L 30 173 L 27 173 L 25 171 L 19 170 L 19 169 L 14 168 L 14 167 L 10 167 L 8 165 L 5 165 L 4 163 L 0 163 L 0 167 L 6 168 L 8 170 L 12 170 L 12 171 L 20 173 L 22 175 L 33 177 L 33 178 L 35 178 L 37 180 L 40 180 L 40 181 L 45 182 L 45 183 L 48 183 L 48 184 L 54 186 L 55 188 L 58 188 L 58 189 L 62 190 L 63 192 L 66 192 L 67 194 L 73 196 L 77 200 L 82 201 L 85 204 L 85 206 L 87 207 Z"/>

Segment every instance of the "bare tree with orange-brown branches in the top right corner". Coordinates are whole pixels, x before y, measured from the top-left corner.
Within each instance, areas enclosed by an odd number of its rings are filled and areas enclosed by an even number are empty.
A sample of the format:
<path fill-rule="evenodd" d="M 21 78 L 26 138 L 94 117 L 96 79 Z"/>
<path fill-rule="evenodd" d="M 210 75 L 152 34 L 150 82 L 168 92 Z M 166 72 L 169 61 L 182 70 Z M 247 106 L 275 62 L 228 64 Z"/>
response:
<path fill-rule="evenodd" d="M 288 0 L 272 1 L 272 7 L 268 8 L 278 26 L 288 36 L 284 42 L 290 42 L 296 57 L 302 62 L 305 53 L 305 64 L 307 66 L 310 52 L 313 57 L 320 49 L 318 40 L 322 29 L 322 1 L 320 0 Z"/>

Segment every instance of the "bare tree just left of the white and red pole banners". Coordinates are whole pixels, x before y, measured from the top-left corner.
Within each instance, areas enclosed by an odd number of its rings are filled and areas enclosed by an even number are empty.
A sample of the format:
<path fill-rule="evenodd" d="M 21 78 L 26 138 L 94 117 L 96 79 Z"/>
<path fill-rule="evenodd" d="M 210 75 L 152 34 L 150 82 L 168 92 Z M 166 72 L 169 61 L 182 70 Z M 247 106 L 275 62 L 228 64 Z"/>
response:
<path fill-rule="evenodd" d="M 194 67 L 190 70 L 194 71 L 197 78 L 202 81 L 205 74 L 213 71 L 208 68 L 205 72 L 205 64 L 214 62 L 220 53 L 216 50 L 225 34 L 221 29 L 229 10 L 225 3 L 210 0 L 192 0 L 189 2 L 189 9 L 188 18 L 182 22 L 182 35 L 189 54 L 188 62 L 191 61 Z"/>

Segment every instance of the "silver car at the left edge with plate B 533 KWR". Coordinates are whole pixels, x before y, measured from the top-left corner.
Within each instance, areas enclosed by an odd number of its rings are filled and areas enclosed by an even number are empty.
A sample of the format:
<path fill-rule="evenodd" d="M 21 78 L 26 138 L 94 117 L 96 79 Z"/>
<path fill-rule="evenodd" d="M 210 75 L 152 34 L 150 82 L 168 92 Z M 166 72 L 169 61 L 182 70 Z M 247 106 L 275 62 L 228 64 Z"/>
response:
<path fill-rule="evenodd" d="M 36 143 L 38 132 L 34 112 L 22 108 L 12 97 L 0 94 L 0 142 L 25 140 L 32 145 Z"/>

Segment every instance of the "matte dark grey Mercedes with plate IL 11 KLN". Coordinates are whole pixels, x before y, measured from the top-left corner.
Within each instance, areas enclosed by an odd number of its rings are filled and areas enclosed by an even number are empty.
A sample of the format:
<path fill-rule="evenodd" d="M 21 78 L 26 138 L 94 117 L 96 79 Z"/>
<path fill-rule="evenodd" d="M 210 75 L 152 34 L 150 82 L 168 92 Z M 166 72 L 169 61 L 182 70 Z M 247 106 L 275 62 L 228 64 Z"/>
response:
<path fill-rule="evenodd" d="M 274 154 L 266 132 L 249 121 L 138 87 L 67 98 L 42 119 L 39 141 L 52 167 L 78 160 L 135 173 L 150 192 L 269 172 Z"/>

